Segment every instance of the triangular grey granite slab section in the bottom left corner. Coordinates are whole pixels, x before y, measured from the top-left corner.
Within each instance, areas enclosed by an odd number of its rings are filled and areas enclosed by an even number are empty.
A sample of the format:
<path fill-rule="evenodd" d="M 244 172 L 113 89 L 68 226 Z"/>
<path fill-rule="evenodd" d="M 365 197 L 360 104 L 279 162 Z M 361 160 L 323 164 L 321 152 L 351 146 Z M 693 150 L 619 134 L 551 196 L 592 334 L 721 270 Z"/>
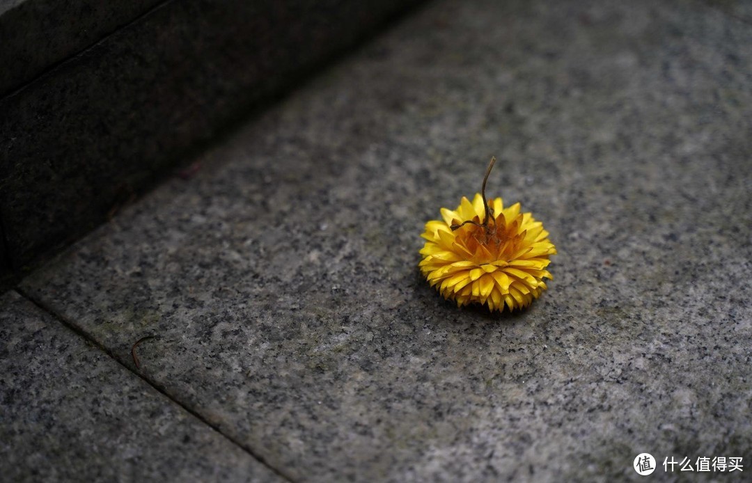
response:
<path fill-rule="evenodd" d="M 0 296 L 3 481 L 285 481 L 16 292 Z"/>

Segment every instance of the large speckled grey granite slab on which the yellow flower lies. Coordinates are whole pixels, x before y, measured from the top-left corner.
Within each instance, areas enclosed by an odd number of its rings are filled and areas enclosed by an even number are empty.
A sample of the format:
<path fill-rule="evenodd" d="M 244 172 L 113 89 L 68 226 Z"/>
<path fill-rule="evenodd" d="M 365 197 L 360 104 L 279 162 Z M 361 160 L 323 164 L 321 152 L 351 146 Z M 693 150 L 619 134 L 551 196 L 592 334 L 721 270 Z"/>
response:
<path fill-rule="evenodd" d="M 647 451 L 737 481 L 750 46 L 699 2 L 440 2 L 23 290 L 126 364 L 159 335 L 147 377 L 293 479 L 611 481 Z M 491 155 L 559 249 L 514 315 L 417 271 Z"/>

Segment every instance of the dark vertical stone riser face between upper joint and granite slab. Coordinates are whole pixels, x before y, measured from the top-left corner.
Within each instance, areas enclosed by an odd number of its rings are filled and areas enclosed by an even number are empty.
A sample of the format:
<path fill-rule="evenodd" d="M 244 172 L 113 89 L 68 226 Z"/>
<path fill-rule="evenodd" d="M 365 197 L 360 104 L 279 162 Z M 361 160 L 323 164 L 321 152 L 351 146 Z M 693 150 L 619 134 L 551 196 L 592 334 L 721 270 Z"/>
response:
<path fill-rule="evenodd" d="M 14 269 L 105 222 L 190 149 L 415 3 L 165 2 L 0 99 Z"/>

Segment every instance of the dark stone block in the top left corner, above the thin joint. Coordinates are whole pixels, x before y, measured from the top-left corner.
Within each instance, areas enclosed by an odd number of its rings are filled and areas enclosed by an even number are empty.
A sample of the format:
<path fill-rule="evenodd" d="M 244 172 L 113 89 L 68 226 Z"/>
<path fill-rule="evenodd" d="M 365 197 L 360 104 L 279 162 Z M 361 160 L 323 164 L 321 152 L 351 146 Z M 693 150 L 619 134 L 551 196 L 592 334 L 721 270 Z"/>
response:
<path fill-rule="evenodd" d="M 0 0 L 0 97 L 158 3 L 159 0 Z"/>

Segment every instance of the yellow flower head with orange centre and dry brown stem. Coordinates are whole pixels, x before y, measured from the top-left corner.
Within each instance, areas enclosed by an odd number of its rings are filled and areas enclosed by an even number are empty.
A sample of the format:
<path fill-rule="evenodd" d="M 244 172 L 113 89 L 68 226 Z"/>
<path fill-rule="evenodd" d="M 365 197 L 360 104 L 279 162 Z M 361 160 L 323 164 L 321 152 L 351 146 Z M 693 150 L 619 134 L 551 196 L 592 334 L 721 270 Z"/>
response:
<path fill-rule="evenodd" d="M 556 247 L 548 232 L 520 204 L 504 207 L 502 198 L 487 203 L 486 172 L 481 193 L 472 203 L 462 197 L 456 210 L 441 208 L 441 220 L 426 223 L 421 235 L 420 271 L 429 283 L 457 306 L 486 304 L 493 312 L 529 306 L 553 279 L 546 267 Z M 483 220 L 481 222 L 481 220 Z"/>

